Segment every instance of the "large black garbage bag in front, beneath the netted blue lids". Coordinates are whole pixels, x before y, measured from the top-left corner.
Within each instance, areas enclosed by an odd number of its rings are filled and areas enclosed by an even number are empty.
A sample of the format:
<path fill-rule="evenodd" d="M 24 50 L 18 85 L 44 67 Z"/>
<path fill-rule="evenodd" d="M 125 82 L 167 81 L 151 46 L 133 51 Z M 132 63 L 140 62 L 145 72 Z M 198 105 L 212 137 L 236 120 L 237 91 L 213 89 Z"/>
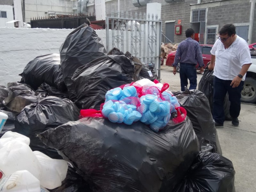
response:
<path fill-rule="evenodd" d="M 199 152 L 188 118 L 180 124 L 170 121 L 161 132 L 141 122 L 84 118 L 49 129 L 39 138 L 59 150 L 93 192 L 170 192 Z"/>

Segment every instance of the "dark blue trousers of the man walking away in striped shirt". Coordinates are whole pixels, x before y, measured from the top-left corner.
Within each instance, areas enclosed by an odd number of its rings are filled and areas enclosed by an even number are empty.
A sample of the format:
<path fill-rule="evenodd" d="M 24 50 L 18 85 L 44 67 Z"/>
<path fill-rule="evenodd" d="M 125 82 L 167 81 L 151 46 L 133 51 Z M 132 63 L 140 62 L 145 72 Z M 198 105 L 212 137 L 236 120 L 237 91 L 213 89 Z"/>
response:
<path fill-rule="evenodd" d="M 180 86 L 181 91 L 185 91 L 185 86 L 188 87 L 189 79 L 189 90 L 196 89 L 197 86 L 197 75 L 196 66 L 190 63 L 180 63 Z"/>

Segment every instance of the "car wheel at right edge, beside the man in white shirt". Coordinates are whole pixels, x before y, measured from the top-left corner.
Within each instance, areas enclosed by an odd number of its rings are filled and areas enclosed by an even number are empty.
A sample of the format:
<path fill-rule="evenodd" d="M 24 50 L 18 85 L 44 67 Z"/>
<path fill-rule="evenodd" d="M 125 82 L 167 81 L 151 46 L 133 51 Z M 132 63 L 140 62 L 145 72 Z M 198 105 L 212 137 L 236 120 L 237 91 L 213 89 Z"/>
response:
<path fill-rule="evenodd" d="M 241 92 L 241 102 L 256 102 L 256 80 L 252 77 L 246 77 L 244 80 L 244 87 Z"/>

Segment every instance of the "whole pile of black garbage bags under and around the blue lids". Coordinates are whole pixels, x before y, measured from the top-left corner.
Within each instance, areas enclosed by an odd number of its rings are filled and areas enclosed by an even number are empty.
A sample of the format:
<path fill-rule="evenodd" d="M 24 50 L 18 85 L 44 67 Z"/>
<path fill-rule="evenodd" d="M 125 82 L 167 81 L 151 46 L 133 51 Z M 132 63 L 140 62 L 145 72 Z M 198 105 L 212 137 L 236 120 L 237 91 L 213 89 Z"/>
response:
<path fill-rule="evenodd" d="M 1 112 L 9 116 L 0 137 L 19 132 L 32 150 L 68 162 L 66 179 L 52 192 L 235 192 L 234 167 L 221 155 L 203 92 L 176 92 L 187 117 L 160 132 L 141 122 L 79 117 L 80 109 L 100 110 L 108 90 L 154 81 L 155 71 L 129 52 L 107 53 L 96 32 L 82 25 L 60 54 L 36 57 L 20 82 L 0 86 Z"/>

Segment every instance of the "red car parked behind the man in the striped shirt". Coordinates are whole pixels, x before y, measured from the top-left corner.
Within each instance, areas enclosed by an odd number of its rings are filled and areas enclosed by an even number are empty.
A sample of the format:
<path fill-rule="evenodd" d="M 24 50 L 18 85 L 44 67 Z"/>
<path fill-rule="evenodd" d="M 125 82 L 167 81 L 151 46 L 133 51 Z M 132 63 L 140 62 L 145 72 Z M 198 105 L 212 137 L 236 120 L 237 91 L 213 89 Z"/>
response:
<path fill-rule="evenodd" d="M 211 50 L 212 50 L 213 45 L 204 45 L 200 44 L 201 52 L 203 55 L 203 60 L 204 60 L 204 68 L 206 68 L 207 63 L 211 60 Z M 174 62 L 174 57 L 175 57 L 176 51 L 169 52 L 165 65 L 167 66 L 172 66 Z M 196 68 L 199 70 L 200 68 L 199 64 L 197 63 Z M 180 72 L 180 65 L 176 67 L 177 72 Z"/>

